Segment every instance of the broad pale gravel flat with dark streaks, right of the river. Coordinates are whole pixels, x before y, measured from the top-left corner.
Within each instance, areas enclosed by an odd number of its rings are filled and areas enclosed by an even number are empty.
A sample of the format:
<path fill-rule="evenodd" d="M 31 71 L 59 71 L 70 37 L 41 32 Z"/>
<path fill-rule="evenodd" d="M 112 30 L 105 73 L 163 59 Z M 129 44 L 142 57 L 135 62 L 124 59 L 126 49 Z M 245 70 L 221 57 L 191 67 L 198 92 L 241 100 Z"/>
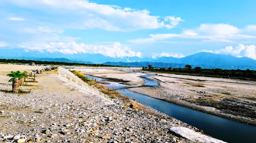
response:
<path fill-rule="evenodd" d="M 190 75 L 149 77 L 158 87 L 129 90 L 218 117 L 256 126 L 256 82 Z"/>

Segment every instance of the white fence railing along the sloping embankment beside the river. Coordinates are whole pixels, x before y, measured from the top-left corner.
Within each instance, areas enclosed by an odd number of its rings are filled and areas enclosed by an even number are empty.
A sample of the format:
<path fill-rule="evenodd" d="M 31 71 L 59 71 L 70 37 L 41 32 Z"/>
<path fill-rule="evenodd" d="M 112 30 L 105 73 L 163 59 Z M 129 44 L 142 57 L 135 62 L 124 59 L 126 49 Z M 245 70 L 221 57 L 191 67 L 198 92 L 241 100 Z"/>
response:
<path fill-rule="evenodd" d="M 76 86 L 78 86 L 78 87 L 80 87 L 80 88 L 82 88 L 82 89 L 85 89 L 85 90 L 87 90 L 87 91 L 90 91 L 90 92 L 92 92 L 93 94 L 98 95 L 98 96 L 101 96 L 101 97 L 103 97 L 103 98 L 109 99 L 108 95 L 106 95 L 106 94 L 100 92 L 100 90 L 95 89 L 95 88 L 93 88 L 93 87 L 90 87 L 89 85 L 86 85 L 86 84 L 84 84 L 84 83 L 78 81 L 77 79 L 74 79 L 74 78 L 72 78 L 72 77 L 68 76 L 67 74 L 62 73 L 62 72 L 60 72 L 60 71 L 59 71 L 59 77 L 64 77 L 64 79 L 65 79 L 66 81 L 69 81 L 69 82 L 75 84 Z"/>

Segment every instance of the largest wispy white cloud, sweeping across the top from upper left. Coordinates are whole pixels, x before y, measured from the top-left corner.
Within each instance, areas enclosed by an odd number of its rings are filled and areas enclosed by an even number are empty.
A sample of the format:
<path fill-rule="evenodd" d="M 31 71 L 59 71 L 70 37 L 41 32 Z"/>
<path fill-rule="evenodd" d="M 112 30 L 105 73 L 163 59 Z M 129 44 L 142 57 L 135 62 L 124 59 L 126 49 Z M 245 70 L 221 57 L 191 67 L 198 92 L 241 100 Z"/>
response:
<path fill-rule="evenodd" d="M 134 10 L 119 6 L 96 4 L 88 0 L 8 0 L 25 8 L 51 12 L 51 21 L 65 28 L 101 28 L 108 31 L 174 28 L 180 17 L 150 15 L 148 10 Z"/>

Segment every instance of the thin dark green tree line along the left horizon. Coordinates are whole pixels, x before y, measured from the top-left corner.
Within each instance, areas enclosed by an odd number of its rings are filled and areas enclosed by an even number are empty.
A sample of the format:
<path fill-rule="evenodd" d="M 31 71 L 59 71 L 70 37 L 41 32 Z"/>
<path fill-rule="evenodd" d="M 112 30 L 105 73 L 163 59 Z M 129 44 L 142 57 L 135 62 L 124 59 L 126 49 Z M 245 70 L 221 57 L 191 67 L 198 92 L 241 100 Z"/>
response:
<path fill-rule="evenodd" d="M 35 61 L 35 60 L 17 60 L 17 59 L 0 59 L 1 63 L 20 63 L 30 64 L 35 63 L 38 65 L 65 65 L 65 66 L 93 66 L 93 67 L 119 67 L 104 64 L 81 64 L 81 63 L 67 63 L 67 62 L 48 62 L 48 61 Z"/>

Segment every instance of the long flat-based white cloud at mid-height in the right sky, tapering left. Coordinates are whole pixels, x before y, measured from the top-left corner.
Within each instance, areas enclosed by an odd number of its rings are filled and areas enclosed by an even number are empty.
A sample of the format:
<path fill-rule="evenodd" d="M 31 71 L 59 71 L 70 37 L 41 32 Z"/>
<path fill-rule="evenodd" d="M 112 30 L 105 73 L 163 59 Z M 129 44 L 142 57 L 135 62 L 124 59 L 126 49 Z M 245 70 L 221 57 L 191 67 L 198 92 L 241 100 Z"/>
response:
<path fill-rule="evenodd" d="M 254 26 L 247 26 L 253 29 Z M 248 29 L 247 28 L 247 29 Z M 246 28 L 245 28 L 246 29 Z M 229 24 L 201 24 L 196 29 L 183 30 L 181 34 L 150 34 L 150 38 L 138 38 L 129 40 L 135 44 L 154 43 L 168 40 L 171 38 L 194 39 L 202 42 L 235 42 L 235 40 L 255 39 L 256 34 L 246 35 L 245 29 L 239 29 Z"/>

